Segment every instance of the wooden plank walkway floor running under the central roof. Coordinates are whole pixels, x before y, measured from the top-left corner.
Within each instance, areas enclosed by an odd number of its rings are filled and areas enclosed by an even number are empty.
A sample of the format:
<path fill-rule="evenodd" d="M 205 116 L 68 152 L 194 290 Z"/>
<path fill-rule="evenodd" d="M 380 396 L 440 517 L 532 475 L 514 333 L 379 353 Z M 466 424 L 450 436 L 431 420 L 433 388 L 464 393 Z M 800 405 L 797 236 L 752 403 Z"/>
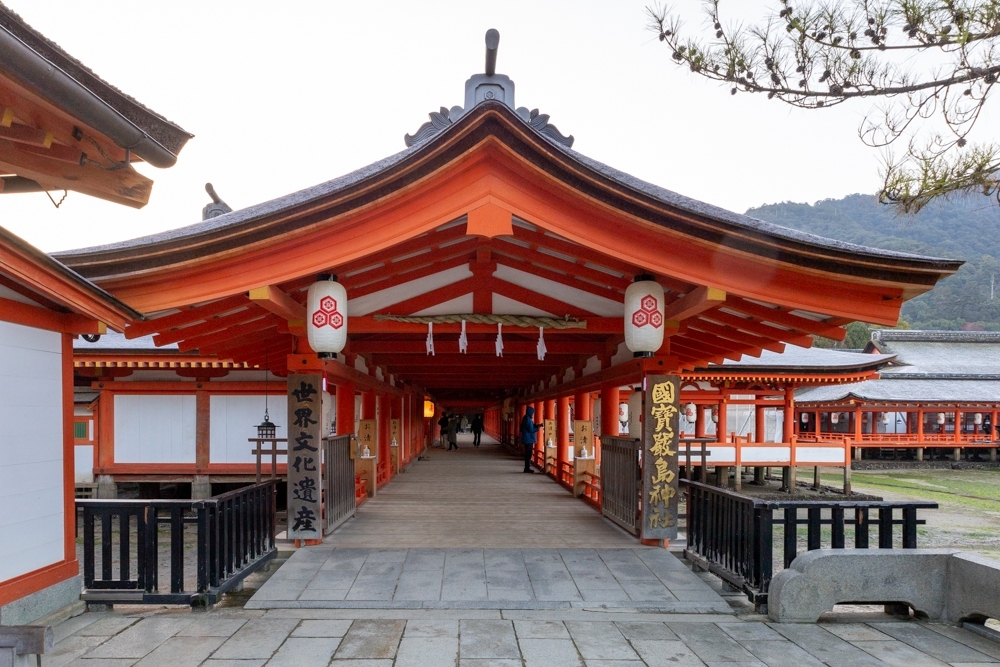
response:
<path fill-rule="evenodd" d="M 483 436 L 459 450 L 431 448 L 329 535 L 334 547 L 636 547 L 594 508 Z"/>

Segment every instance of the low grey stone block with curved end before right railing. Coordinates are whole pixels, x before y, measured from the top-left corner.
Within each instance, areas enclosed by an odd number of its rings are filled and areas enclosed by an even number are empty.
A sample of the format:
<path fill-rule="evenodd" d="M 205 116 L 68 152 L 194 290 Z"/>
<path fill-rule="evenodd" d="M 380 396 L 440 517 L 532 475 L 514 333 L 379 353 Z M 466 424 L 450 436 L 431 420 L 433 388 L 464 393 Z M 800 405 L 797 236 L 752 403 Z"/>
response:
<path fill-rule="evenodd" d="M 843 603 L 904 603 L 945 618 L 951 549 L 818 549 L 798 556 L 771 580 L 768 616 L 814 623 Z M 1000 575 L 1000 570 L 998 570 Z"/>

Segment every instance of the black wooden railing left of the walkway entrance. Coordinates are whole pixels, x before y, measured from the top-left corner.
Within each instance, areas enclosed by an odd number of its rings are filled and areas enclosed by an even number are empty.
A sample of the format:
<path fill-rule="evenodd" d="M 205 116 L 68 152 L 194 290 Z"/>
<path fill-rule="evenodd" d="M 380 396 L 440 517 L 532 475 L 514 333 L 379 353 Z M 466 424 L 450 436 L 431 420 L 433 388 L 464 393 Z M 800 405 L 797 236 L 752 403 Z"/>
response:
<path fill-rule="evenodd" d="M 268 480 L 206 500 L 78 500 L 81 599 L 215 604 L 277 555 L 276 485 Z M 169 574 L 169 592 L 161 588 L 162 570 Z"/>

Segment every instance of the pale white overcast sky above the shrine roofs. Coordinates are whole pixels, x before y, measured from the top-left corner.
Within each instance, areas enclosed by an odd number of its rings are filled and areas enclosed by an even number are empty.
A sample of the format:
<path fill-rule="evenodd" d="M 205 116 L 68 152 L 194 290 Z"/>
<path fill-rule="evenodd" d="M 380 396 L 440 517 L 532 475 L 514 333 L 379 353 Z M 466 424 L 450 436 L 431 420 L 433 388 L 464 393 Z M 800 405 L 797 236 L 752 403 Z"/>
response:
<path fill-rule="evenodd" d="M 155 184 L 138 211 L 77 193 L 59 210 L 44 194 L 0 199 L 0 224 L 46 251 L 197 222 L 206 181 L 238 209 L 402 150 L 428 112 L 464 102 L 488 28 L 518 106 L 644 180 L 738 212 L 878 186 L 879 154 L 857 138 L 867 106 L 730 96 L 674 65 L 643 0 L 3 1 L 195 135 L 174 167 L 140 165 Z M 701 23 L 699 2 L 675 5 Z"/>

